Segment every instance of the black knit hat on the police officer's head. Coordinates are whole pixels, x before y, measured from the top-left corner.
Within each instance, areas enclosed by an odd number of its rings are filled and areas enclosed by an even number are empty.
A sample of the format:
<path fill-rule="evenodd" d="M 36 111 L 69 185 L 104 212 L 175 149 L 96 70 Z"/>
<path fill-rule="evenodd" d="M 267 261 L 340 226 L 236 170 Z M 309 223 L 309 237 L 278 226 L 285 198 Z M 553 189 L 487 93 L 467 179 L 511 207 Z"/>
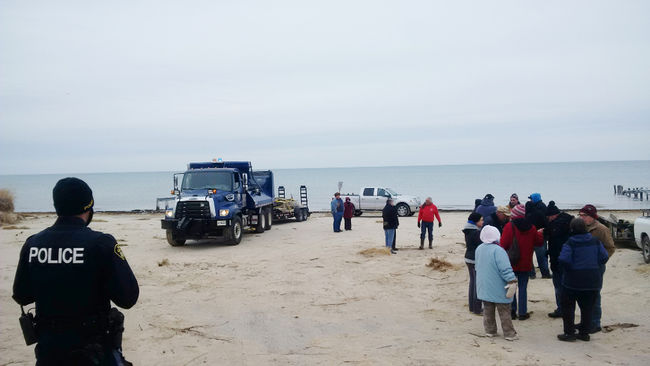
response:
<path fill-rule="evenodd" d="M 54 209 L 58 216 L 76 216 L 92 210 L 93 191 L 79 178 L 63 178 L 52 190 Z"/>

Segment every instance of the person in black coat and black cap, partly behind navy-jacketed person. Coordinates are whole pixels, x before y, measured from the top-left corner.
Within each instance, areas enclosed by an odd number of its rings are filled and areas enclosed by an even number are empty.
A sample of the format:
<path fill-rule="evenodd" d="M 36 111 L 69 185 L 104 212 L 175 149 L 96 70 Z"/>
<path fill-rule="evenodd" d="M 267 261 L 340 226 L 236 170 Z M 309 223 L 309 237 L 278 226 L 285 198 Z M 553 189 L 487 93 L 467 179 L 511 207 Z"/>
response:
<path fill-rule="evenodd" d="M 562 251 L 562 246 L 569 240 L 571 235 L 571 220 L 573 216 L 566 212 L 560 211 L 554 201 L 548 203 L 546 208 L 546 218 L 548 225 L 544 229 L 544 237 L 548 242 L 548 258 L 551 262 L 551 271 L 553 272 L 553 287 L 555 287 L 555 305 L 556 308 L 548 316 L 551 318 L 562 317 L 562 267 L 558 257 Z"/>

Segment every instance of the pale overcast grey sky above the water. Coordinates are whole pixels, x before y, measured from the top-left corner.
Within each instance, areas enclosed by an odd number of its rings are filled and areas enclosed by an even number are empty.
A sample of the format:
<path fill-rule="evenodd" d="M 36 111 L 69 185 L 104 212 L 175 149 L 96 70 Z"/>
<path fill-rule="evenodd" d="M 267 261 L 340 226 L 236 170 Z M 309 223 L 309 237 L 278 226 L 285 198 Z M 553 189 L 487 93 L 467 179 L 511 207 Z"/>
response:
<path fill-rule="evenodd" d="M 650 159 L 648 1 L 0 2 L 0 174 Z"/>

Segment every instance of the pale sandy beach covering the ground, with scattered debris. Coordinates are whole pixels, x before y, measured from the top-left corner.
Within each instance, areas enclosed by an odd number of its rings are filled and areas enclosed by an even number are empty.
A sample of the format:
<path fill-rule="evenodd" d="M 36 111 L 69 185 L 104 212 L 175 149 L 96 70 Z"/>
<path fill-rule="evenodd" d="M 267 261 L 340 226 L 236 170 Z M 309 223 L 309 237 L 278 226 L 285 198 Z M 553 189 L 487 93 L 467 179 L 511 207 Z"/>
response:
<path fill-rule="evenodd" d="M 633 218 L 631 213 L 617 213 Z M 467 310 L 468 274 L 460 232 L 466 213 L 443 213 L 433 250 L 417 250 L 415 218 L 401 219 L 397 255 L 381 251 L 378 217 L 331 232 L 323 214 L 247 234 L 239 246 L 214 241 L 171 247 L 160 215 L 97 214 L 140 282 L 126 314 L 124 350 L 138 365 L 644 365 L 650 364 L 650 266 L 619 249 L 608 264 L 603 325 L 637 324 L 563 343 L 550 280 L 529 283 L 532 317 L 515 321 L 520 339 L 484 338 Z M 24 240 L 54 221 L 36 215 L 0 230 L 0 365 L 33 365 L 19 307 L 11 299 Z M 452 264 L 444 272 L 431 258 Z"/>

